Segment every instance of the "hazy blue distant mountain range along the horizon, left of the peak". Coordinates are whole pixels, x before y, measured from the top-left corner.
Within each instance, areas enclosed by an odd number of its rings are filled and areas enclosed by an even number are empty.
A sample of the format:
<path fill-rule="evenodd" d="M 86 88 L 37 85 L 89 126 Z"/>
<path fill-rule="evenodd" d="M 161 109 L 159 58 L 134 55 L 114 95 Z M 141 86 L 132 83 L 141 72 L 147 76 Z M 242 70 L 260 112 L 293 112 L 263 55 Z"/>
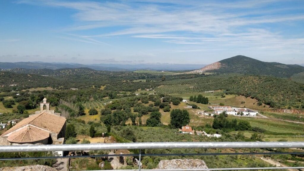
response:
<path fill-rule="evenodd" d="M 204 66 L 204 65 L 203 65 Z M 199 64 L 90 64 L 78 63 L 46 63 L 46 62 L 0 62 L 1 69 L 62 69 L 62 68 L 91 68 L 98 71 L 135 71 L 135 70 L 164 70 L 181 71 L 194 70 L 202 67 Z"/>

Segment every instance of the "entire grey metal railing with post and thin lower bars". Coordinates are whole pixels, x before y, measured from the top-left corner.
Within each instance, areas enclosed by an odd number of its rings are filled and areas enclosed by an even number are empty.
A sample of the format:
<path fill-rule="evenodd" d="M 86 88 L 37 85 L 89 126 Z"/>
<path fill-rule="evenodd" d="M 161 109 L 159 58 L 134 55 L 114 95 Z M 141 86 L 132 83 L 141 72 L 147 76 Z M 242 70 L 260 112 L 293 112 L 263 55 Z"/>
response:
<path fill-rule="evenodd" d="M 1 158 L 0 160 L 51 159 L 79 157 L 115 157 L 115 156 L 193 156 L 193 155 L 265 155 L 265 154 L 304 154 L 303 152 L 246 152 L 246 153 L 199 153 L 199 154 L 141 154 L 141 149 L 173 148 L 304 148 L 304 142 L 142 142 L 142 143 L 106 143 L 106 144 L 64 144 L 64 145 L 5 145 L 0 152 L 50 152 L 83 150 L 120 150 L 138 149 L 139 154 L 84 155 L 84 156 L 50 156 L 27 158 Z M 199 170 L 261 170 L 261 169 L 304 169 L 304 167 L 260 167 L 260 168 L 210 168 L 210 169 L 141 169 L 138 171 L 199 171 Z M 136 169 L 137 170 L 137 169 Z M 136 171 L 129 169 L 124 171 Z M 121 170 L 118 170 L 121 171 Z"/>

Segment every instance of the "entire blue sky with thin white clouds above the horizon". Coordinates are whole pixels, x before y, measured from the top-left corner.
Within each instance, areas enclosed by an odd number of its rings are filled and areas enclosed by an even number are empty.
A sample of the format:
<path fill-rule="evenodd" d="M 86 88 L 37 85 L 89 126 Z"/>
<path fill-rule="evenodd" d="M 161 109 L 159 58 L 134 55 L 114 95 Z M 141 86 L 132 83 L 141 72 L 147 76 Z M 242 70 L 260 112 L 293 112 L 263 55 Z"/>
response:
<path fill-rule="evenodd" d="M 1 0 L 0 62 L 304 63 L 303 0 Z"/>

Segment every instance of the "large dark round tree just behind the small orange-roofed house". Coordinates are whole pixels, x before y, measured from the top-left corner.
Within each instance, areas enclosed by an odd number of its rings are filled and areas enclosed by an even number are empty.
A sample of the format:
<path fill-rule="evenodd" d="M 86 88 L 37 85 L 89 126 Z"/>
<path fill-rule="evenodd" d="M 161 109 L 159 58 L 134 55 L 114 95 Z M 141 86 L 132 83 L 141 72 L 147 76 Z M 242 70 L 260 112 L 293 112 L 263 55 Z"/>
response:
<path fill-rule="evenodd" d="M 181 128 L 189 124 L 189 121 L 189 113 L 185 109 L 173 109 L 170 113 L 170 124 L 172 128 Z"/>

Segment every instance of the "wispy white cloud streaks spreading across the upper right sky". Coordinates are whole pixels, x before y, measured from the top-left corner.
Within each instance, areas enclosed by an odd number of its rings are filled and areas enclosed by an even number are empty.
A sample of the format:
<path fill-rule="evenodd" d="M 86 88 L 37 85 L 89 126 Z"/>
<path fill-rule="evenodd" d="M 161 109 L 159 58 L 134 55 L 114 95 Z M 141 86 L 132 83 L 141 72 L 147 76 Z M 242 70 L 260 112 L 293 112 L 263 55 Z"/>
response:
<path fill-rule="evenodd" d="M 68 34 L 61 38 L 85 43 L 104 45 L 106 43 L 101 41 L 104 37 L 129 36 L 159 39 L 177 45 L 206 46 L 175 52 L 233 49 L 304 53 L 303 36 L 286 36 L 286 31 L 277 27 L 292 27 L 292 24 L 304 21 L 304 12 L 299 8 L 304 5 L 302 1 L 23 0 L 19 3 L 75 10 L 72 16 L 75 24 L 62 29 Z M 286 3 L 288 7 L 285 7 Z M 103 28 L 115 28 L 108 29 L 115 31 L 104 31 Z M 82 32 L 81 35 L 73 33 L 92 29 L 102 31 L 94 31 L 94 34 Z"/>

